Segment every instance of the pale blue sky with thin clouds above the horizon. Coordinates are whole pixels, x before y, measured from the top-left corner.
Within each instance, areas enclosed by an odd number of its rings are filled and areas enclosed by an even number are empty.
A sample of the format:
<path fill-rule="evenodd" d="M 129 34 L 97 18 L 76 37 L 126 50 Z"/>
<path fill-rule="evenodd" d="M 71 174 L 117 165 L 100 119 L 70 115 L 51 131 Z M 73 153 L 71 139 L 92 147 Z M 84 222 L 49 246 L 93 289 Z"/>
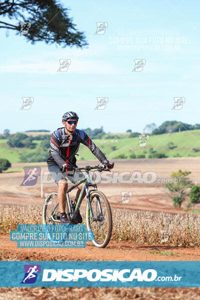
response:
<path fill-rule="evenodd" d="M 146 124 L 165 120 L 200 123 L 199 1 L 60 2 L 71 9 L 69 16 L 84 31 L 88 48 L 32 45 L 11 31 L 6 37 L 0 28 L 0 132 L 52 131 L 69 110 L 79 115 L 78 128 L 103 126 L 106 132 L 141 132 Z M 95 35 L 96 22 L 103 21 L 108 24 L 104 34 Z M 57 72 L 61 58 L 71 59 L 66 72 Z M 142 71 L 132 71 L 134 59 L 145 59 Z M 20 110 L 27 96 L 33 104 Z M 108 103 L 94 109 L 101 96 Z M 176 96 L 185 97 L 180 110 L 171 109 Z"/>

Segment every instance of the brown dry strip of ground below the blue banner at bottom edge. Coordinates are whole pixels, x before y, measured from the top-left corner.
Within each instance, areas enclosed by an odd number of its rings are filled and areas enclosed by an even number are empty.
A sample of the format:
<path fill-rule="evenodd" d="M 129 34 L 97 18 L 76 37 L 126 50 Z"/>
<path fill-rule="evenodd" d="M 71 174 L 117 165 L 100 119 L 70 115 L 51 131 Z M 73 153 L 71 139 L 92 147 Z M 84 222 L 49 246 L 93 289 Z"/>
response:
<path fill-rule="evenodd" d="M 196 287 L 3 287 L 0 300 L 197 300 Z"/>

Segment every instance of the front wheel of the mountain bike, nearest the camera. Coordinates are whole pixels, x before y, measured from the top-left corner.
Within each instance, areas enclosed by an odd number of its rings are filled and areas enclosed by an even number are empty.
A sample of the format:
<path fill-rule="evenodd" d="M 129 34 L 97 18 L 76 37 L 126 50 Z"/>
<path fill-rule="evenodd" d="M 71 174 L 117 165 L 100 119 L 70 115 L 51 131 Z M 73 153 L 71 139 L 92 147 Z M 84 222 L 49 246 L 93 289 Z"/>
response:
<path fill-rule="evenodd" d="M 98 248 L 104 248 L 108 244 L 112 234 L 112 213 L 109 202 L 101 191 L 90 193 L 93 221 L 87 202 L 86 205 L 86 226 L 92 231 L 92 243 Z"/>

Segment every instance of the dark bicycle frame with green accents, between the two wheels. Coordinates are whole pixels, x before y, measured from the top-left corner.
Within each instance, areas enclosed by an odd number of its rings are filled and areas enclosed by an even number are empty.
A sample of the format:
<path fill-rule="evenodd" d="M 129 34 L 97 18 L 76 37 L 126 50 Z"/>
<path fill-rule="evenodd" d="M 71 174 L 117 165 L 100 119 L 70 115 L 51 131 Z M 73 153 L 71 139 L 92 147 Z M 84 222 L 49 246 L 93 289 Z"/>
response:
<path fill-rule="evenodd" d="M 70 202 L 69 202 L 69 194 L 68 194 L 68 193 L 69 193 L 72 189 L 74 189 L 75 187 L 77 187 L 79 184 L 81 184 L 82 182 L 84 182 L 84 183 L 83 183 L 83 185 L 82 185 L 82 188 L 81 188 L 79 197 L 78 197 L 78 199 L 77 199 L 77 203 L 76 203 L 76 205 L 75 205 L 75 210 L 74 210 L 74 212 L 72 213 L 71 205 L 70 205 Z M 94 189 L 88 189 L 89 186 L 93 186 Z M 80 205 L 81 205 L 81 202 L 82 202 L 82 200 L 83 200 L 82 195 L 83 195 L 84 191 L 86 191 L 86 198 L 87 198 L 88 205 L 89 205 L 89 211 L 90 211 L 90 215 L 91 215 L 91 220 L 92 220 L 92 221 L 94 220 L 93 210 L 92 210 L 91 201 L 90 201 L 90 192 L 91 192 L 92 190 L 97 190 L 97 186 L 96 186 L 96 184 L 92 184 L 92 183 L 91 183 L 91 180 L 90 180 L 90 178 L 89 178 L 89 176 L 88 176 L 88 172 L 87 172 L 87 171 L 86 171 L 86 176 L 85 176 L 84 178 L 78 180 L 74 185 L 72 185 L 71 187 L 69 187 L 69 188 L 67 189 L 67 191 L 66 191 L 66 201 L 67 201 L 68 210 L 69 210 L 68 216 L 71 217 L 71 221 L 72 221 L 72 222 L 74 221 L 76 212 L 77 212 L 77 210 L 79 209 L 79 207 L 80 207 Z M 98 204 L 98 205 L 100 205 L 100 204 Z M 100 212 L 102 212 L 102 211 L 101 211 L 101 207 L 99 207 L 99 210 L 100 210 Z"/>

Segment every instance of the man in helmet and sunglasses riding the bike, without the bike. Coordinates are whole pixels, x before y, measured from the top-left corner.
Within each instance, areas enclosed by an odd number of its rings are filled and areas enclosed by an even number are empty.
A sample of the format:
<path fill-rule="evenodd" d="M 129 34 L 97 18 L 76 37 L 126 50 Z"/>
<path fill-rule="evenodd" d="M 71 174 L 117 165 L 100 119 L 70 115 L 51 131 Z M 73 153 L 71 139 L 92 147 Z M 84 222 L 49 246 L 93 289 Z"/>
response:
<path fill-rule="evenodd" d="M 93 141 L 87 136 L 87 134 L 80 129 L 76 129 L 78 116 L 73 111 L 65 112 L 62 116 L 62 124 L 64 127 L 60 127 L 53 131 L 51 134 L 50 150 L 47 159 L 48 170 L 58 185 L 57 199 L 60 210 L 60 221 L 62 224 L 71 224 L 71 221 L 67 218 L 65 213 L 66 204 L 66 190 L 67 181 L 66 177 L 73 183 L 84 177 L 82 172 L 74 172 L 74 167 L 77 167 L 75 154 L 78 151 L 79 144 L 83 143 L 89 150 L 98 158 L 98 160 L 106 167 L 106 170 L 112 168 L 112 165 L 106 159 L 105 155 L 100 149 L 93 143 Z M 78 155 L 78 154 L 77 154 Z M 65 175 L 62 173 L 62 169 L 65 166 Z M 80 190 L 83 183 L 79 184 L 75 202 L 78 199 Z M 85 192 L 82 195 L 84 198 Z M 82 222 L 82 217 L 78 210 L 76 215 L 76 221 Z"/>

